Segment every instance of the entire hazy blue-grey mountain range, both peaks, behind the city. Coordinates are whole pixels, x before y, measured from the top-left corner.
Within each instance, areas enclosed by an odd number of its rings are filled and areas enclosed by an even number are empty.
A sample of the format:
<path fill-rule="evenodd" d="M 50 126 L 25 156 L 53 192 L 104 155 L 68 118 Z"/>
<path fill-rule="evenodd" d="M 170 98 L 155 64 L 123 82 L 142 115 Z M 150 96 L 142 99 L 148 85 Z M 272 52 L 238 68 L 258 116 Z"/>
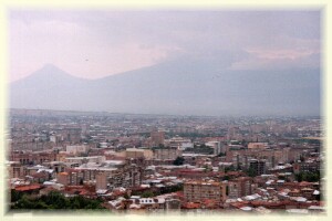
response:
<path fill-rule="evenodd" d="M 319 115 L 320 70 L 231 71 L 175 60 L 98 80 L 45 65 L 10 85 L 10 107 L 186 115 Z"/>

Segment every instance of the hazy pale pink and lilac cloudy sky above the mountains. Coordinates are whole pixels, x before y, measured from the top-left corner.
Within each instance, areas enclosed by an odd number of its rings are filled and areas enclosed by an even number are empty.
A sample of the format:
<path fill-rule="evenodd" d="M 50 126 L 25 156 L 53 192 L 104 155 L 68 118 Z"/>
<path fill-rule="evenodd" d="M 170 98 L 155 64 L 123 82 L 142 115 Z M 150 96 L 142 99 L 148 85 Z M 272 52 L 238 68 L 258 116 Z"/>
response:
<path fill-rule="evenodd" d="M 320 11 L 10 12 L 10 80 L 46 63 L 80 77 L 177 56 L 225 57 L 225 69 L 320 66 Z"/>

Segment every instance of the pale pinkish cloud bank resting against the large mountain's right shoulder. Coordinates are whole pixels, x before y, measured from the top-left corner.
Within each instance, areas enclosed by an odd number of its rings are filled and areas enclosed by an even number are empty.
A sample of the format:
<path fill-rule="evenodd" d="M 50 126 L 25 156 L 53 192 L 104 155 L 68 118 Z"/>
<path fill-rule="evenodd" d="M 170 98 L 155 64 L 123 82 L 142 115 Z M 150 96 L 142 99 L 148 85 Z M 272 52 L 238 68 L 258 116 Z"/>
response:
<path fill-rule="evenodd" d="M 247 57 L 231 64 L 230 70 L 319 69 L 320 41 L 274 36 L 268 45 L 243 49 Z"/>

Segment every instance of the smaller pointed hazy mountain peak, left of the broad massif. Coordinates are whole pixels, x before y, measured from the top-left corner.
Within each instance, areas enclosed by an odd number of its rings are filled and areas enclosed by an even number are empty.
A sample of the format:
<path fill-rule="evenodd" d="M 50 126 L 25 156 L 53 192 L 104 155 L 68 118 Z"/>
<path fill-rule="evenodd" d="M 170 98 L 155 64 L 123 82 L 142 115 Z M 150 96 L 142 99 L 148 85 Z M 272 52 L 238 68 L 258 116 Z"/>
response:
<path fill-rule="evenodd" d="M 10 106 L 18 108 L 72 109 L 83 104 L 89 80 L 74 77 L 53 65 L 10 85 Z"/>

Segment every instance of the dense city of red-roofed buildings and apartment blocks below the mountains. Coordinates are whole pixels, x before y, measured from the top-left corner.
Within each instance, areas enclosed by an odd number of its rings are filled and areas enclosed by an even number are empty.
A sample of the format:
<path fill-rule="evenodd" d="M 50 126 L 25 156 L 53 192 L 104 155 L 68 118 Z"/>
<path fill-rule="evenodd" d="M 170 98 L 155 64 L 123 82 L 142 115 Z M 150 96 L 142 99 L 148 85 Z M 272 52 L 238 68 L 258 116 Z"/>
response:
<path fill-rule="evenodd" d="M 10 109 L 10 211 L 324 213 L 320 117 Z"/>

